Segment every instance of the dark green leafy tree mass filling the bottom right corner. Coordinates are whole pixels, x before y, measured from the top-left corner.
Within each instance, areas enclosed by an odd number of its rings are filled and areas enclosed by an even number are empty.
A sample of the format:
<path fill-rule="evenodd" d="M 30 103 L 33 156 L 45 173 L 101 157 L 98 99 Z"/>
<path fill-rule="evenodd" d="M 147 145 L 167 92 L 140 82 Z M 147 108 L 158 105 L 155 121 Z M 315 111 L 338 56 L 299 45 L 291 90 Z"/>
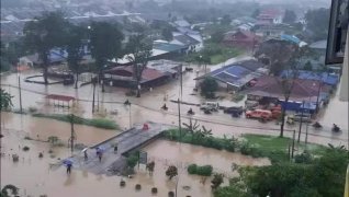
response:
<path fill-rule="evenodd" d="M 247 190 L 257 196 L 342 196 L 348 162 L 347 150 L 328 149 L 309 164 L 254 167 L 244 173 L 243 179 Z"/>

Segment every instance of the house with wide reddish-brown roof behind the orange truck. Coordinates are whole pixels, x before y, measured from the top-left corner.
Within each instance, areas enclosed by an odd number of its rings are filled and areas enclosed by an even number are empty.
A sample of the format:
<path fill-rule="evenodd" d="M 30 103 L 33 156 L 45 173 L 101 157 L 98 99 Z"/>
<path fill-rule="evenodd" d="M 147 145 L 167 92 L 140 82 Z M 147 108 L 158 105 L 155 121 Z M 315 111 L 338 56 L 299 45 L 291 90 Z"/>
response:
<path fill-rule="evenodd" d="M 291 90 L 288 104 L 285 104 L 283 89 L 275 77 L 263 76 L 257 79 L 256 84 L 248 90 L 247 99 L 255 101 L 278 101 L 288 111 L 300 111 L 302 103 L 306 106 L 320 105 L 325 100 L 327 89 L 317 80 L 296 79 Z M 314 107 L 308 108 L 314 112 Z"/>

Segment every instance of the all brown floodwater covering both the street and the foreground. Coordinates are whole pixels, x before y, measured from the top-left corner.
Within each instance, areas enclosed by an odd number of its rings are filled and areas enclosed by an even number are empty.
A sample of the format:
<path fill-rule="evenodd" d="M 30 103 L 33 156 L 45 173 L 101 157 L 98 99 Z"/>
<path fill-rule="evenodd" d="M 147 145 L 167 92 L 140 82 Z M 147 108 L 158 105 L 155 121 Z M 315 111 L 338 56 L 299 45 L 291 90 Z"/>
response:
<path fill-rule="evenodd" d="M 232 62 L 237 59 L 230 60 Z M 212 69 L 219 68 L 224 65 L 212 67 Z M 195 69 L 195 68 L 194 68 Z M 200 71 L 202 74 L 203 70 Z M 120 130 L 105 130 L 82 125 L 75 125 L 77 135 L 77 143 L 92 146 L 109 139 L 122 130 L 126 130 L 133 125 L 142 125 L 145 121 L 155 121 L 178 126 L 178 105 L 169 100 L 178 100 L 180 95 L 179 81 L 173 80 L 168 84 L 154 88 L 153 92 L 145 92 L 142 99 L 127 97 L 125 92 L 127 90 L 120 88 L 105 88 L 105 93 L 98 89 L 97 101 L 99 104 L 95 108 L 98 113 L 91 113 L 91 97 L 92 86 L 85 85 L 78 90 L 72 86 L 64 86 L 63 84 L 42 85 L 35 83 L 24 82 L 24 78 L 37 74 L 37 70 L 29 70 L 21 73 L 22 81 L 22 104 L 23 108 L 35 107 L 40 113 L 47 114 L 70 114 L 74 113 L 81 117 L 104 117 L 120 126 Z M 193 91 L 195 83 L 195 72 L 187 72 L 183 76 L 183 95 L 182 101 L 189 103 L 200 104 L 205 100 Z M 12 73 L 1 77 L 1 88 L 12 94 L 14 108 L 19 108 L 19 89 L 18 76 Z M 75 96 L 78 101 L 70 109 L 61 109 L 48 105 L 45 101 L 47 94 L 63 94 Z M 224 100 L 217 101 L 223 106 L 239 106 L 244 105 L 244 101 L 234 103 L 232 95 L 227 93 L 219 93 L 225 96 Z M 168 100 L 164 101 L 165 95 Z M 124 101 L 130 100 L 132 105 L 125 106 Z M 160 106 L 166 103 L 169 109 L 164 112 Z M 187 111 L 192 107 L 195 115 L 188 116 Z M 117 114 L 111 112 L 117 111 Z M 206 115 L 199 109 L 198 106 L 181 105 L 181 120 L 188 123 L 190 118 L 198 119 L 199 124 L 212 129 L 213 136 L 222 137 L 224 135 L 239 137 L 243 134 L 261 134 L 278 136 L 280 126 L 274 121 L 267 124 L 257 120 L 241 118 L 232 118 L 223 112 Z M 330 100 L 328 106 L 323 109 L 317 118 L 324 125 L 324 129 L 315 130 L 312 126 L 308 127 L 308 141 L 315 143 L 334 143 L 345 144 L 348 141 L 348 102 L 340 102 L 338 100 L 338 92 Z M 330 131 L 331 124 L 336 123 L 342 128 L 341 134 L 333 134 Z M 292 137 L 292 130 L 299 131 L 299 125 L 285 126 L 286 137 Z M 302 137 L 305 139 L 306 124 L 302 127 Z M 72 174 L 67 176 L 65 167 L 49 169 L 49 164 L 57 163 L 58 158 L 64 159 L 70 155 L 70 151 L 65 147 L 52 148 L 47 142 L 40 142 L 36 140 L 47 140 L 49 136 L 57 136 L 65 144 L 70 137 L 70 125 L 46 118 L 36 118 L 31 115 L 20 115 L 13 113 L 1 113 L 1 131 L 5 136 L 1 139 L 1 152 L 4 155 L 1 158 L 1 183 L 14 184 L 21 188 L 20 194 L 38 196 L 46 194 L 49 197 L 61 196 L 111 196 L 110 194 L 117 194 L 117 196 L 131 197 L 147 197 L 151 196 L 151 187 L 158 188 L 157 196 L 167 196 L 168 192 L 176 189 L 178 181 L 179 196 L 200 196 L 211 197 L 210 181 L 202 184 L 202 178 L 196 175 L 188 175 L 185 166 L 190 163 L 200 165 L 211 164 L 215 172 L 224 173 L 227 177 L 236 175 L 230 171 L 232 163 L 239 165 L 268 165 L 268 159 L 252 159 L 241 155 L 239 153 L 229 153 L 207 149 L 203 147 L 195 147 L 166 140 L 157 140 L 144 150 L 148 153 L 148 161 L 155 161 L 155 173 L 153 176 L 148 175 L 145 166 L 137 167 L 135 177 L 126 178 L 126 186 L 120 187 L 120 176 L 104 176 L 95 175 L 85 171 L 72 169 Z M 24 140 L 24 137 L 31 137 L 35 140 Z M 22 147 L 30 147 L 30 151 L 24 152 Z M 49 154 L 52 149 L 54 153 Z M 38 152 L 44 153 L 43 159 L 38 159 Z M 12 162 L 11 154 L 16 153 L 20 157 L 18 163 Z M 10 157 L 9 157 L 10 154 Z M 53 157 L 54 155 L 54 157 Z M 172 181 L 168 181 L 165 175 L 167 166 L 173 164 L 179 167 L 179 176 Z M 140 184 L 142 190 L 135 192 L 135 185 Z M 225 183 L 227 179 L 225 178 Z M 190 189 L 183 189 L 183 186 L 189 186 Z"/>

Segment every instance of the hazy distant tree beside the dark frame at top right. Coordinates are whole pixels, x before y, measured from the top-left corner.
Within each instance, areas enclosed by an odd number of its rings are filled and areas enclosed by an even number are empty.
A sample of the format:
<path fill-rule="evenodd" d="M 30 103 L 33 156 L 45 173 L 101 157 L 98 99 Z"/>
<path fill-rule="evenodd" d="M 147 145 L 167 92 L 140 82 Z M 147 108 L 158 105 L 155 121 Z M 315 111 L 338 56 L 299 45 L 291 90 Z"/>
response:
<path fill-rule="evenodd" d="M 313 32 L 314 40 L 326 39 L 329 24 L 329 9 L 308 10 L 305 14 L 306 28 Z"/>

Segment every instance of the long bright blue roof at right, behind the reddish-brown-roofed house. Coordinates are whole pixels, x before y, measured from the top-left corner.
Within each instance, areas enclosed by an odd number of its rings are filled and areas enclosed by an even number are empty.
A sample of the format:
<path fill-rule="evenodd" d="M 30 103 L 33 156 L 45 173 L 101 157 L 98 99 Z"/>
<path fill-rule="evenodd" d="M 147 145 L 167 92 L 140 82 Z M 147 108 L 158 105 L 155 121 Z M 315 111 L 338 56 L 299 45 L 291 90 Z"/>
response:
<path fill-rule="evenodd" d="M 282 71 L 281 76 L 286 76 L 288 70 Z M 320 73 L 314 73 L 312 71 L 307 70 L 300 70 L 299 71 L 299 79 L 305 79 L 305 80 L 322 80 L 323 83 L 329 84 L 329 85 L 337 85 L 339 82 L 338 74 L 328 73 L 328 72 L 320 72 Z"/>

